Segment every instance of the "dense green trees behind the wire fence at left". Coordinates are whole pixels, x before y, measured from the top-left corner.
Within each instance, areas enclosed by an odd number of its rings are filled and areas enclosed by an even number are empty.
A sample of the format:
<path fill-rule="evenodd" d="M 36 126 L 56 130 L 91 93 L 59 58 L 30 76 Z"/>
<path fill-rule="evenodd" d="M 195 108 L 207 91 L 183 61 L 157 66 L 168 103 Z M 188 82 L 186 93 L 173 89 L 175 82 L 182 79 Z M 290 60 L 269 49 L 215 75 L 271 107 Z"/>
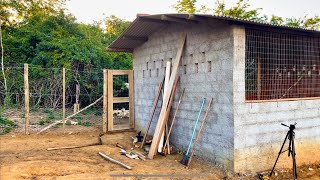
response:
<path fill-rule="evenodd" d="M 74 16 L 65 14 L 65 0 L 5 0 L 0 13 L 5 21 L 3 28 L 4 63 L 6 67 L 30 67 L 30 91 L 42 93 L 39 100 L 31 98 L 31 105 L 56 107 L 59 100 L 61 68 L 67 68 L 68 87 L 80 84 L 83 105 L 102 94 L 102 69 L 132 69 L 128 53 L 108 53 L 106 47 L 129 25 L 115 16 L 107 18 L 109 29 L 100 24 L 82 24 Z M 113 27 L 111 28 L 111 25 Z M 56 68 L 56 69 L 55 69 Z M 16 71 L 16 70 L 15 70 Z M 6 70 L 11 102 L 22 94 L 23 77 L 14 76 L 13 69 Z M 18 74 L 17 74 L 18 75 Z M 4 100 L 0 75 L 0 100 Z M 55 94 L 58 99 L 44 94 Z M 15 97 L 14 97 L 15 96 Z M 23 96 L 23 95 L 21 95 Z M 61 98 L 60 98 L 61 99 Z M 20 101 L 22 98 L 20 98 Z M 70 100 L 70 99 L 69 99 Z M 22 102 L 15 102 L 22 103 Z"/>

